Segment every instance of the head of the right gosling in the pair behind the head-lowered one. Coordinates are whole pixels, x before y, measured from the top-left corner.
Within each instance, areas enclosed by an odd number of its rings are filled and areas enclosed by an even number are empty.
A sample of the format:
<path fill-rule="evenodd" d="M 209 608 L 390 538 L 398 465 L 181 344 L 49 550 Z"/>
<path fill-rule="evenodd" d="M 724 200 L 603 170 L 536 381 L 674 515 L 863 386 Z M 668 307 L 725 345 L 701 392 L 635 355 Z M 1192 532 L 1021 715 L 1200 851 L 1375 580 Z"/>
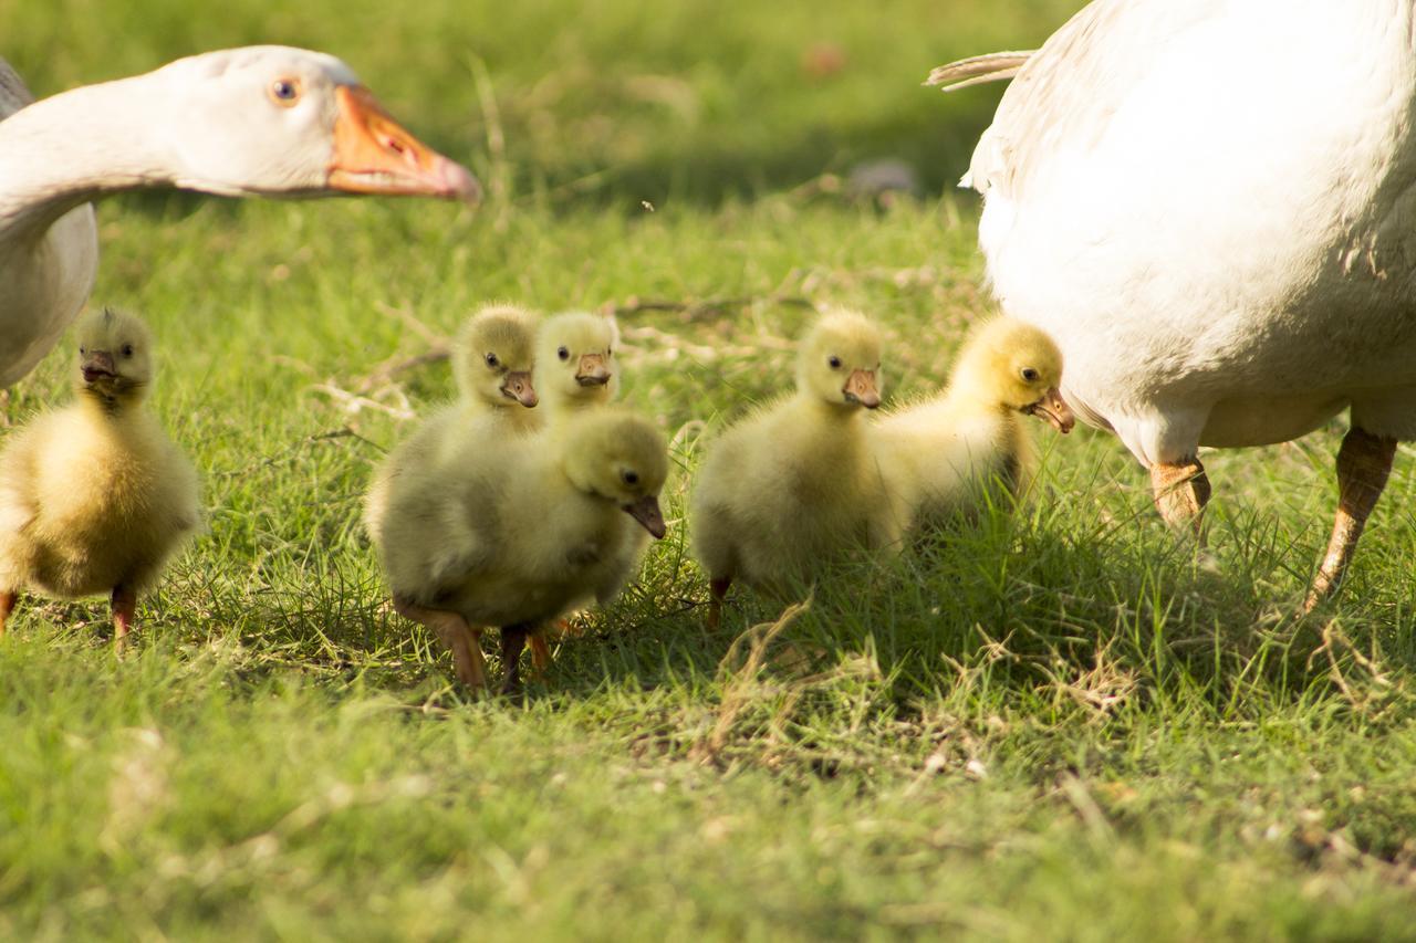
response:
<path fill-rule="evenodd" d="M 541 395 L 552 409 L 602 405 L 619 392 L 615 320 L 586 312 L 547 319 L 537 340 Z"/>

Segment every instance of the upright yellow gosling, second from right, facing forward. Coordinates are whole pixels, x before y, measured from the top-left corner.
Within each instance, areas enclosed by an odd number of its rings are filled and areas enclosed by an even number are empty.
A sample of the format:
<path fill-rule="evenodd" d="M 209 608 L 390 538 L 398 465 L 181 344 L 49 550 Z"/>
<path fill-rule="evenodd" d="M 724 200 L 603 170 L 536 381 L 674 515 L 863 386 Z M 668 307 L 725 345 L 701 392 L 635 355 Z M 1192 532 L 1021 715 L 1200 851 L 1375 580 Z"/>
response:
<path fill-rule="evenodd" d="M 692 545 L 714 609 L 733 579 L 777 590 L 891 530 L 862 413 L 881 402 L 881 337 L 855 312 L 823 316 L 803 338 L 796 394 L 711 443 L 692 498 Z"/>

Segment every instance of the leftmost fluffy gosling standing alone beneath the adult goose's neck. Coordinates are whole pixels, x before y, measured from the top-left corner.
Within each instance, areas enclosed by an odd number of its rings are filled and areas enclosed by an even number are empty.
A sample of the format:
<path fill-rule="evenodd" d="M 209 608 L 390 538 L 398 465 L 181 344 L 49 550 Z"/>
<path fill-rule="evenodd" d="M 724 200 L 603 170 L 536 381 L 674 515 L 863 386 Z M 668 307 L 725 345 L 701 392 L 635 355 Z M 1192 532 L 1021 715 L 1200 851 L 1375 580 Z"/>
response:
<path fill-rule="evenodd" d="M 137 593 L 200 524 L 197 471 L 143 409 L 147 327 L 96 312 L 79 321 L 78 350 L 74 404 L 0 452 L 0 631 L 21 590 L 112 593 L 120 641 Z"/>

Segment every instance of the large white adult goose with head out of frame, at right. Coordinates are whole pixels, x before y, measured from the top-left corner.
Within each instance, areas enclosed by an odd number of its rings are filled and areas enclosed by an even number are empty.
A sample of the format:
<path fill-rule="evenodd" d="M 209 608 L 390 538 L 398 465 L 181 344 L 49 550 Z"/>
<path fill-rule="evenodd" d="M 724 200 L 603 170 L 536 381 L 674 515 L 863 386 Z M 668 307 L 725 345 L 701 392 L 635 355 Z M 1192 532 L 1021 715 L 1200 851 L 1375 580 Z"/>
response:
<path fill-rule="evenodd" d="M 1409 0 L 1096 0 L 1014 76 L 973 156 L 1003 309 L 1051 333 L 1063 395 L 1197 528 L 1197 449 L 1348 409 L 1307 607 L 1341 582 L 1416 438 L 1416 8 Z"/>

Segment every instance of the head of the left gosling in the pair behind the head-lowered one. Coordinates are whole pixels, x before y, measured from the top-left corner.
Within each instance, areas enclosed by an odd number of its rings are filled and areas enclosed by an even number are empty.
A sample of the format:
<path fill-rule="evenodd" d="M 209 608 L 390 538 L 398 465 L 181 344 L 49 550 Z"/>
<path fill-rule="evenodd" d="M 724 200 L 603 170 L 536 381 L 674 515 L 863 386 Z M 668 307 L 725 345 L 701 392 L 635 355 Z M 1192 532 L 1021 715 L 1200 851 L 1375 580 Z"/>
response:
<path fill-rule="evenodd" d="M 514 304 L 489 304 L 457 331 L 452 372 L 464 401 L 534 406 L 535 319 Z"/>

